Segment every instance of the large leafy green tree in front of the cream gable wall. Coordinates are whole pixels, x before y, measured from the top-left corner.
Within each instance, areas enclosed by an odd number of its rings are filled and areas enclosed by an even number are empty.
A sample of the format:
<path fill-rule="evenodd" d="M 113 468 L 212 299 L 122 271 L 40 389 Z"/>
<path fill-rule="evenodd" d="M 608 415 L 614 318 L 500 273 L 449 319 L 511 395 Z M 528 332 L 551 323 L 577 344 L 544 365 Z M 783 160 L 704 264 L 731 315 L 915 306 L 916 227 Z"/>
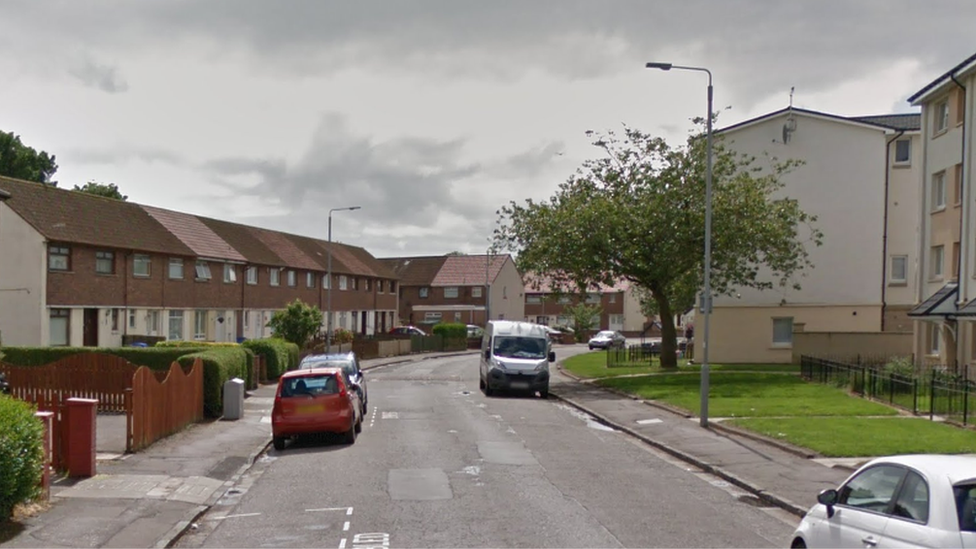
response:
<path fill-rule="evenodd" d="M 519 268 L 587 288 L 629 280 L 650 293 L 661 317 L 661 365 L 677 367 L 675 313 L 702 288 L 705 152 L 701 132 L 673 147 L 633 128 L 593 134 L 604 154 L 588 160 L 551 198 L 511 202 L 495 241 L 518 253 Z M 798 163 L 756 168 L 719 140 L 712 185 L 712 291 L 799 288 L 819 245 L 815 218 L 781 192 Z"/>

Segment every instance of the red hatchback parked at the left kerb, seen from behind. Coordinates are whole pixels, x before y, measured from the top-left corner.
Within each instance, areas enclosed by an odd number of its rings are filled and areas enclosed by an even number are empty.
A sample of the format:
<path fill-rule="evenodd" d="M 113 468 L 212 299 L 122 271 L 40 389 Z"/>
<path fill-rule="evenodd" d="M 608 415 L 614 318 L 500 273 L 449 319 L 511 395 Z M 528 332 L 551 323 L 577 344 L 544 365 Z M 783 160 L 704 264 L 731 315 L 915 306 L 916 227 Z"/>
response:
<path fill-rule="evenodd" d="M 286 372 L 278 379 L 271 432 L 275 450 L 298 435 L 339 433 L 348 444 L 362 431 L 359 393 L 342 368 Z"/>

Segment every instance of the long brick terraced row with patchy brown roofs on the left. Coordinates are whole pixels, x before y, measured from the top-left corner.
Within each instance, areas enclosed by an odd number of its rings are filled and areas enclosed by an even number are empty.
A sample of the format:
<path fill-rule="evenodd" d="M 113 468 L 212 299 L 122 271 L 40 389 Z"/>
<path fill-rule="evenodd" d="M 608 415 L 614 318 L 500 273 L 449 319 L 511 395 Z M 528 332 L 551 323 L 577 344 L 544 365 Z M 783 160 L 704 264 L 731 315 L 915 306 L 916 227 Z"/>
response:
<path fill-rule="evenodd" d="M 0 178 L 4 345 L 117 346 L 270 335 L 295 299 L 386 331 L 393 273 L 363 248 Z M 323 321 L 324 324 L 324 321 Z"/>

